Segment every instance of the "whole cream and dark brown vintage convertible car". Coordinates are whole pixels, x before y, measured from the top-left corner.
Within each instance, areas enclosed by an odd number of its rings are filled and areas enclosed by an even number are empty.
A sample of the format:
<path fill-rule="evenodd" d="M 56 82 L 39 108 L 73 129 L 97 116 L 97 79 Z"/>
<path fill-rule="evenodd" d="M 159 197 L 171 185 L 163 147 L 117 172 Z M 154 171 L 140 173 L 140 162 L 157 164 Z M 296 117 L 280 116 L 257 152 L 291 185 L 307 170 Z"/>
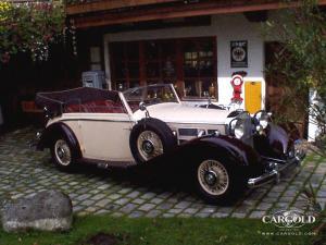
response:
<path fill-rule="evenodd" d="M 244 188 L 278 181 L 300 163 L 298 137 L 271 122 L 214 105 L 184 105 L 174 87 L 156 84 L 124 93 L 89 87 L 37 94 L 46 128 L 37 148 L 50 148 L 55 166 L 105 168 L 181 166 L 210 203 L 239 197 Z"/>

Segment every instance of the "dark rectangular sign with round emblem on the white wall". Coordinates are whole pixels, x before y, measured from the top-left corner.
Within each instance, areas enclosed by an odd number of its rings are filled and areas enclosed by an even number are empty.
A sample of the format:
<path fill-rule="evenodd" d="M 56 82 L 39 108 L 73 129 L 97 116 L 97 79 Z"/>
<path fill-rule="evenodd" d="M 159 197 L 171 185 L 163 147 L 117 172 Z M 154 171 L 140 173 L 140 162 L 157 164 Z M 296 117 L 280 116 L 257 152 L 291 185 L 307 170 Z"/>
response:
<path fill-rule="evenodd" d="M 230 41 L 231 68 L 248 68 L 248 41 Z"/>

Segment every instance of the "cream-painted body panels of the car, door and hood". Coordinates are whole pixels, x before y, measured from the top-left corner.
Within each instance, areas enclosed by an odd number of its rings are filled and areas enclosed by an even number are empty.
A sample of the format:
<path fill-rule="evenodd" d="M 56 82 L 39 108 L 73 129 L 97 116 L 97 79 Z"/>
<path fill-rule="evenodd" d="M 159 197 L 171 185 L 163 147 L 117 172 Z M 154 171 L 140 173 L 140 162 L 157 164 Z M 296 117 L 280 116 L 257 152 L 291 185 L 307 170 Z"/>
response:
<path fill-rule="evenodd" d="M 149 115 L 165 122 L 176 134 L 178 144 L 210 133 L 226 134 L 226 127 L 233 118 L 227 110 L 214 110 L 192 107 L 183 103 L 173 86 L 175 102 L 162 102 L 148 106 Z M 47 127 L 53 123 L 63 122 L 75 133 L 85 159 L 98 159 L 124 164 L 133 162 L 129 148 L 129 136 L 133 126 L 146 118 L 140 109 L 135 112 L 128 106 L 122 93 L 120 99 L 125 108 L 124 113 L 62 113 L 50 119 Z M 108 124 L 109 123 L 109 124 Z M 191 128 L 192 135 L 181 135 L 179 130 Z M 110 135 L 110 136 L 109 136 Z M 97 144 L 95 144 L 95 142 Z"/>

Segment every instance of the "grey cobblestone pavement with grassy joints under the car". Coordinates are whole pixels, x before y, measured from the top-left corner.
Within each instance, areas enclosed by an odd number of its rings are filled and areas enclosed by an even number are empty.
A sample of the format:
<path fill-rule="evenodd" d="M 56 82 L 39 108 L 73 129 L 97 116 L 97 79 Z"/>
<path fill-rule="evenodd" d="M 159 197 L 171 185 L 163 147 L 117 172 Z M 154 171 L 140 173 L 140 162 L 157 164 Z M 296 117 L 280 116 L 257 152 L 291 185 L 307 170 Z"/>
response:
<path fill-rule="evenodd" d="M 104 213 L 128 217 L 237 217 L 258 218 L 275 209 L 296 207 L 306 210 L 300 189 L 309 183 L 326 203 L 326 159 L 310 155 L 302 168 L 277 185 L 246 193 L 231 207 L 204 204 L 196 194 L 175 186 L 130 181 L 127 173 L 83 167 L 74 174 L 59 172 L 50 154 L 29 149 L 33 128 L 0 136 L 0 207 L 7 198 L 33 195 L 42 189 L 62 189 L 73 200 L 77 215 Z M 135 177 L 134 177 L 135 179 Z M 142 179 L 142 176 L 138 176 Z"/>

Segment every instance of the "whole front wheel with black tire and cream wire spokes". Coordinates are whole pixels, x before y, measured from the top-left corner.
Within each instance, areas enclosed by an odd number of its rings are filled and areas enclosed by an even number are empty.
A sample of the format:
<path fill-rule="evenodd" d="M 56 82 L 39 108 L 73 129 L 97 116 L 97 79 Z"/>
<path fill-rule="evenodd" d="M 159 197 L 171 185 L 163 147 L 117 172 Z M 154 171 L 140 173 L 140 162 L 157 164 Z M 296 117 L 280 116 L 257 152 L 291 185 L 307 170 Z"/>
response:
<path fill-rule="evenodd" d="M 242 195 L 244 183 L 234 166 L 209 158 L 195 169 L 199 193 L 208 203 L 228 205 Z"/>

